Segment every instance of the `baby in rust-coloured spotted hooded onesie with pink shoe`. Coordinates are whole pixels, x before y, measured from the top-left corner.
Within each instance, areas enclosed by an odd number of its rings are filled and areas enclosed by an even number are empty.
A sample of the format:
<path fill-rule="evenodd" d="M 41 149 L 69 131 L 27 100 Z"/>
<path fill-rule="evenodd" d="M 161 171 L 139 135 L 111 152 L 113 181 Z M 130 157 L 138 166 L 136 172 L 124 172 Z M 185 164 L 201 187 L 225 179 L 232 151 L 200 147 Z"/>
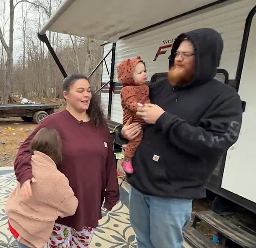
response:
<path fill-rule="evenodd" d="M 147 73 L 145 63 L 138 56 L 133 59 L 124 60 L 117 67 L 118 80 L 122 83 L 121 104 L 123 108 L 123 125 L 132 117 L 132 122 L 140 123 L 142 127 L 145 122 L 136 116 L 138 104 L 149 103 L 149 87 L 145 84 Z M 133 173 L 132 157 L 138 145 L 141 143 L 143 129 L 134 140 L 130 140 L 125 148 L 123 168 L 126 173 Z"/>

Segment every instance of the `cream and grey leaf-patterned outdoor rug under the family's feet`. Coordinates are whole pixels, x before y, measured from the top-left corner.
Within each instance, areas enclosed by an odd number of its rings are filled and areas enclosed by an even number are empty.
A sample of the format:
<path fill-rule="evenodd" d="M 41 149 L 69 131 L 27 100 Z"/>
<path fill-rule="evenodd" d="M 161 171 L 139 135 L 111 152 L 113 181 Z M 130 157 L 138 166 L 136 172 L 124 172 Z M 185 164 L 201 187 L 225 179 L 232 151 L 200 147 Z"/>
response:
<path fill-rule="evenodd" d="M 5 215 L 5 202 L 16 185 L 13 167 L 0 167 L 0 247 L 15 248 L 16 241 L 10 234 Z M 97 227 L 90 248 L 136 248 L 134 231 L 128 214 L 128 192 L 120 188 L 120 202 L 103 218 Z"/>

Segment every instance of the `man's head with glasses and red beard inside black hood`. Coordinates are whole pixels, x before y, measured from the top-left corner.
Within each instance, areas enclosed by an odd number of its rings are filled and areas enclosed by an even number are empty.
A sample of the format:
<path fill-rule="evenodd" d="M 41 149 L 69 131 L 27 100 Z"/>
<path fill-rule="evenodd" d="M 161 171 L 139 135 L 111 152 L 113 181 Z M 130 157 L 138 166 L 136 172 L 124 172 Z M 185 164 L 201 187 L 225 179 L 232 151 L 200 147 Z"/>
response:
<path fill-rule="evenodd" d="M 168 79 L 173 86 L 206 83 L 214 78 L 223 50 L 221 35 L 201 28 L 178 35 L 169 56 Z"/>

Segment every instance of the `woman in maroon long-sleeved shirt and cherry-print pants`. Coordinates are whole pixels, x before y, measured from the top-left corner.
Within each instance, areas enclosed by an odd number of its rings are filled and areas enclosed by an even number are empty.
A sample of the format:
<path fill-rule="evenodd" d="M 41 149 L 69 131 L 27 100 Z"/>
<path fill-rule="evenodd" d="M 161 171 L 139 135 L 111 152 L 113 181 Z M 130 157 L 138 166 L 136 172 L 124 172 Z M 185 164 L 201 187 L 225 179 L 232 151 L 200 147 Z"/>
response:
<path fill-rule="evenodd" d="M 59 132 L 63 160 L 58 169 L 69 179 L 79 204 L 75 215 L 57 219 L 48 247 L 87 247 L 101 219 L 103 202 L 103 207 L 111 210 L 119 200 L 113 146 L 87 77 L 66 77 L 63 96 L 67 103 L 65 110 L 49 115 L 29 135 L 19 148 L 14 169 L 22 196 L 29 198 L 33 194 L 30 183 L 36 183 L 31 171 L 31 153 L 27 149 L 29 142 L 42 127 Z"/>

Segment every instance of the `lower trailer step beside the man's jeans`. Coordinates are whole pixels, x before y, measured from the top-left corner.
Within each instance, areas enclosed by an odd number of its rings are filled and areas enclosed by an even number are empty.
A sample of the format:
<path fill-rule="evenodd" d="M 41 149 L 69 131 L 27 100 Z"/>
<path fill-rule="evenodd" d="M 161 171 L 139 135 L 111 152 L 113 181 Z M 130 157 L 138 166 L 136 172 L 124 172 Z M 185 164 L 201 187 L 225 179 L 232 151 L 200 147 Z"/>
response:
<path fill-rule="evenodd" d="M 208 240 L 202 233 L 194 227 L 186 227 L 183 230 L 183 236 L 186 242 L 193 248 L 217 248 L 220 247 Z"/>

